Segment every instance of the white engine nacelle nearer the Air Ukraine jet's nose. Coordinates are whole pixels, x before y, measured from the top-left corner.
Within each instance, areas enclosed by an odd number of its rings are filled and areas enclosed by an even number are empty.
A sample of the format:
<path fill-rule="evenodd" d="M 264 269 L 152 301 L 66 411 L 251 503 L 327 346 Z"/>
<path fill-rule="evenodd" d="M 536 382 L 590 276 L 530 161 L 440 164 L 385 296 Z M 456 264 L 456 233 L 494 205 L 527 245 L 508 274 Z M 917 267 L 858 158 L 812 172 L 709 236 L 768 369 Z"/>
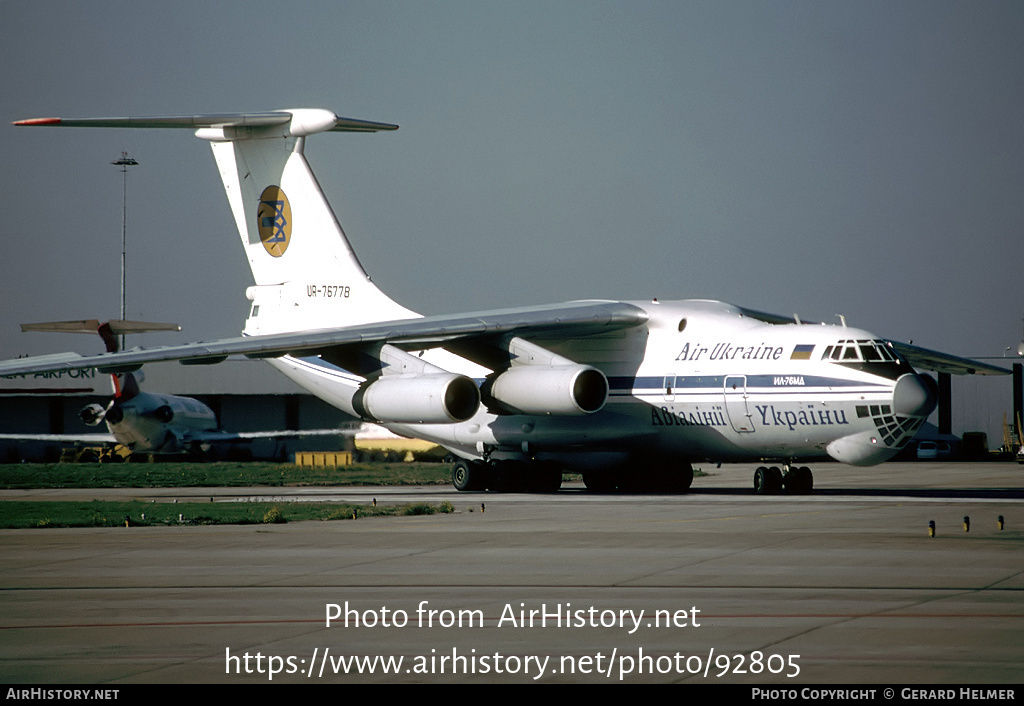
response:
<path fill-rule="evenodd" d="M 513 366 L 489 384 L 487 393 L 521 414 L 591 414 L 608 399 L 608 379 L 588 365 Z"/>

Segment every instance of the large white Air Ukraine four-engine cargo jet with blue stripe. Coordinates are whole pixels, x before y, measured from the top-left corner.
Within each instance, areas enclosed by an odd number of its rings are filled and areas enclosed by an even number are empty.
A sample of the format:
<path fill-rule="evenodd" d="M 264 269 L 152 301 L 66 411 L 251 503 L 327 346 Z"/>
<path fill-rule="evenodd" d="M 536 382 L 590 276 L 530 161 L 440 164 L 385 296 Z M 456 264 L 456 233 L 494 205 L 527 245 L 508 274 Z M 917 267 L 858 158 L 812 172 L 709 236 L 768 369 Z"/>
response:
<path fill-rule="evenodd" d="M 459 490 L 684 491 L 694 462 L 761 463 L 761 493 L 806 493 L 834 459 L 882 463 L 936 405 L 914 371 L 976 361 L 721 301 L 586 300 L 422 317 L 370 279 L 304 157 L 322 132 L 396 125 L 322 110 L 16 125 L 186 128 L 213 149 L 255 286 L 241 337 L 0 364 L 0 374 L 266 359 L 359 419 L 435 442 Z"/>

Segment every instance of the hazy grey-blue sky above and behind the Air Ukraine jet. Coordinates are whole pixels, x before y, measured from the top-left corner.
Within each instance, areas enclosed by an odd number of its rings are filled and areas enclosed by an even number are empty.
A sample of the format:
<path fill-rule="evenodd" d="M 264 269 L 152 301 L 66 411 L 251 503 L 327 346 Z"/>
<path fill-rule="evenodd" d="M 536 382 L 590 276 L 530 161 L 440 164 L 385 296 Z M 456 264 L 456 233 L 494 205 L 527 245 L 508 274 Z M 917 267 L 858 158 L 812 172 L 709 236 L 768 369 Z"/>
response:
<path fill-rule="evenodd" d="M 205 142 L 10 121 L 293 107 L 400 125 L 306 155 L 425 314 L 699 297 L 967 356 L 1021 340 L 1020 2 L 2 8 L 0 358 L 98 344 L 22 322 L 117 316 L 122 151 L 128 316 L 185 328 L 146 344 L 238 334 L 251 284 Z"/>

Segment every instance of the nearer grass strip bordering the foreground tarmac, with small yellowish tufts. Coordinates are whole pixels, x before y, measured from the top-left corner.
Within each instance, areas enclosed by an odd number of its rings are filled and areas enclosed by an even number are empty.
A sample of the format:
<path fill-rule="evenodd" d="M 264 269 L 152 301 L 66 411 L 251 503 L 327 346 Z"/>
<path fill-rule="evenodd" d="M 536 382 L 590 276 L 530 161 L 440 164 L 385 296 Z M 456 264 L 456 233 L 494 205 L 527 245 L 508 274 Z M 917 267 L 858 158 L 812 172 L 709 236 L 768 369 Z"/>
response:
<path fill-rule="evenodd" d="M 276 525 L 310 520 L 352 520 L 454 512 L 452 503 L 440 505 L 353 505 L 348 503 L 271 502 L 0 502 L 0 528 L 48 527 L 157 527 L 173 525 Z M 127 518 L 127 520 L 126 520 Z"/>

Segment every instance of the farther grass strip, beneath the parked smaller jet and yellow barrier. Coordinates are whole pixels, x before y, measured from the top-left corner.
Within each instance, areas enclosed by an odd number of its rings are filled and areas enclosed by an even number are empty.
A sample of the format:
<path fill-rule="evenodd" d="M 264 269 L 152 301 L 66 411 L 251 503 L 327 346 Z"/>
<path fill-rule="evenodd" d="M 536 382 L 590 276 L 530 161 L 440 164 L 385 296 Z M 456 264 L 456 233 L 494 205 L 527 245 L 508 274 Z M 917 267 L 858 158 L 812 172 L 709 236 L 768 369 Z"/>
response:
<path fill-rule="evenodd" d="M 204 488 L 248 486 L 431 486 L 452 482 L 438 463 L 300 468 L 289 463 L 9 463 L 0 488 Z"/>

